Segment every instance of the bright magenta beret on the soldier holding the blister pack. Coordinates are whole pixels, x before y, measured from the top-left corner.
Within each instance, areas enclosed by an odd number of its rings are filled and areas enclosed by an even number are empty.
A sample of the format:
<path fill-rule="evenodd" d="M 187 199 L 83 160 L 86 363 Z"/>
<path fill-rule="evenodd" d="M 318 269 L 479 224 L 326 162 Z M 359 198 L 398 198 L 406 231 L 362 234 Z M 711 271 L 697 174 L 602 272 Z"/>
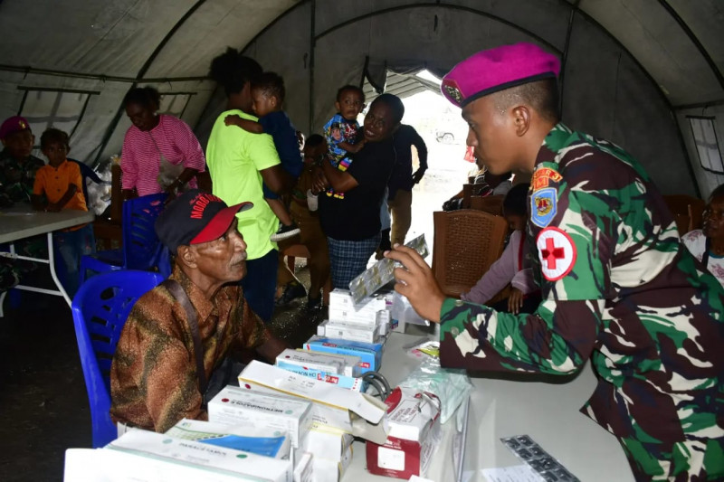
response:
<path fill-rule="evenodd" d="M 458 107 L 499 90 L 557 78 L 560 61 L 534 43 L 515 43 L 481 51 L 443 77 L 443 96 Z"/>

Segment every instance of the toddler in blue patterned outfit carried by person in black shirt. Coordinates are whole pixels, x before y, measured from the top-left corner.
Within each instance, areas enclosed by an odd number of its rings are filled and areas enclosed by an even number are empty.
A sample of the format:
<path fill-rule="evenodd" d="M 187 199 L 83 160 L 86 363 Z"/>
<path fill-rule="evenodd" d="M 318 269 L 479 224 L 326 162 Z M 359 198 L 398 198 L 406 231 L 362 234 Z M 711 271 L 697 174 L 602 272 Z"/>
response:
<path fill-rule="evenodd" d="M 324 125 L 324 137 L 329 146 L 331 164 L 340 171 L 347 171 L 352 164 L 349 155 L 356 154 L 365 146 L 357 122 L 357 116 L 365 109 L 365 92 L 354 85 L 345 85 L 337 91 L 334 107 L 337 114 Z M 345 194 L 335 193 L 329 188 L 327 195 L 342 198 Z"/>

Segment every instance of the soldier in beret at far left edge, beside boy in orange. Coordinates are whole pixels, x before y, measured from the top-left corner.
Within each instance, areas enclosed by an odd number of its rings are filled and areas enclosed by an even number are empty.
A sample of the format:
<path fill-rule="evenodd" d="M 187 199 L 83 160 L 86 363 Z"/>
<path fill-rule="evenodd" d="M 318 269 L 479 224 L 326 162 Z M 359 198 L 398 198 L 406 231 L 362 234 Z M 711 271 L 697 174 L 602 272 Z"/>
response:
<path fill-rule="evenodd" d="M 0 126 L 0 141 L 3 143 L 3 151 L 0 152 L 0 209 L 15 203 L 30 205 L 35 171 L 45 165 L 31 154 L 34 140 L 30 124 L 24 118 L 7 118 Z M 37 258 L 43 253 L 44 246 L 45 236 L 35 236 L 16 242 L 15 252 Z M 0 246 L 0 250 L 7 249 Z M 33 269 L 33 265 L 23 265 L 23 269 L 20 269 L 13 260 L 0 258 L 0 292 L 13 288 L 22 274 Z"/>

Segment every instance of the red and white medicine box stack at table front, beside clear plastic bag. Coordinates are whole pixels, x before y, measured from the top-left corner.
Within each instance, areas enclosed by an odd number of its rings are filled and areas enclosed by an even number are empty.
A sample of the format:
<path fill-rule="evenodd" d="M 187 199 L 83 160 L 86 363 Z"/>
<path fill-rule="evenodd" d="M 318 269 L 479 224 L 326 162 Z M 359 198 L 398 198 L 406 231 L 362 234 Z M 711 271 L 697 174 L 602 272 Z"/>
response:
<path fill-rule="evenodd" d="M 440 401 L 430 392 L 397 387 L 387 397 L 384 445 L 367 440 L 367 470 L 379 476 L 424 477 L 440 440 Z"/>

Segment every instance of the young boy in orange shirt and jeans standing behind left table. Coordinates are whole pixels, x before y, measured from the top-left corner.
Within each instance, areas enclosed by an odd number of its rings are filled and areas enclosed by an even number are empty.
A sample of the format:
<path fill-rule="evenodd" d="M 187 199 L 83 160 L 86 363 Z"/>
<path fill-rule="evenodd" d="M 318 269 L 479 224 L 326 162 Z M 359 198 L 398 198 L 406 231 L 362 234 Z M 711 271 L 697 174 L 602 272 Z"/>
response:
<path fill-rule="evenodd" d="M 33 185 L 33 208 L 38 211 L 58 213 L 63 209 L 88 211 L 83 197 L 81 168 L 69 162 L 71 150 L 68 134 L 56 128 L 49 128 L 40 137 L 43 155 L 48 165 L 35 173 Z M 81 256 L 95 251 L 95 238 L 90 224 L 73 226 L 52 235 L 54 248 L 60 254 L 56 269 L 64 280 L 63 285 L 69 296 L 78 290 Z"/>

